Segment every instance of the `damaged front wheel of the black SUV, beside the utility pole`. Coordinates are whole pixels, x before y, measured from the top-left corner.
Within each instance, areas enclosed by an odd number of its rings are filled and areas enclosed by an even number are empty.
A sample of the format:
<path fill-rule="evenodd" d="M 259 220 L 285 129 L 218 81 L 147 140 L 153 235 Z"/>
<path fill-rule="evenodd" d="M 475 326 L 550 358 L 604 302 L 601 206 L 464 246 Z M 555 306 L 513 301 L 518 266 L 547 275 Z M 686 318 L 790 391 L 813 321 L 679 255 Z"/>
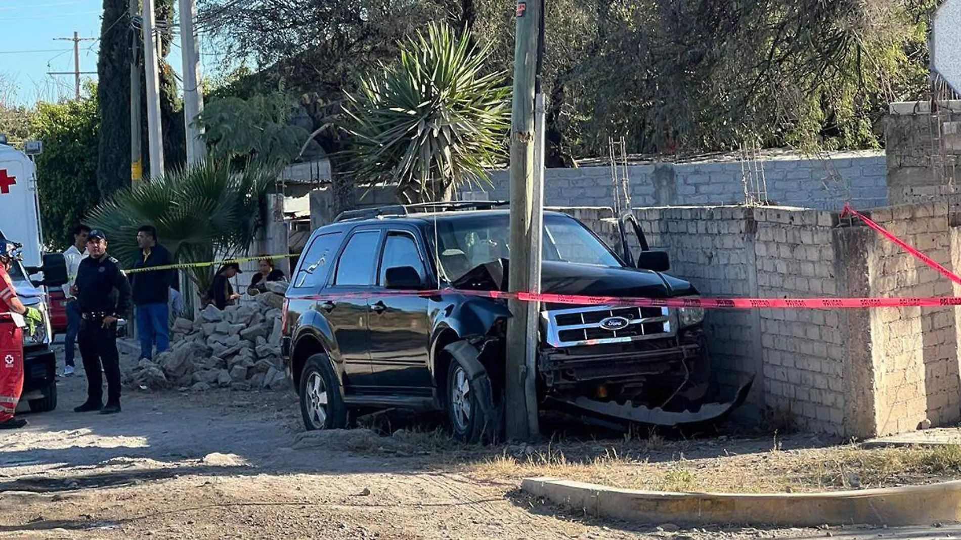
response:
<path fill-rule="evenodd" d="M 468 373 L 458 360 L 451 361 L 444 402 L 454 438 L 465 443 L 479 444 L 496 437 L 496 433 L 491 430 L 490 419 L 480 405 L 479 380 L 486 382 L 488 388 L 490 382 L 486 374 L 471 380 Z"/>

